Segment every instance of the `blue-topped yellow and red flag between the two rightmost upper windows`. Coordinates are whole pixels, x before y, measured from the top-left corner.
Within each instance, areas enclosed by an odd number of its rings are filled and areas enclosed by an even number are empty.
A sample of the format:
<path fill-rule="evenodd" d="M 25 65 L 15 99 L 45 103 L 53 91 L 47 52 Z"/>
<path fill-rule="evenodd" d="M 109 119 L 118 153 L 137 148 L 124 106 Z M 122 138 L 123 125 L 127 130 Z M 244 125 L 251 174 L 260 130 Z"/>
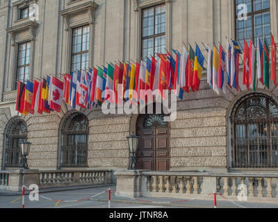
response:
<path fill-rule="evenodd" d="M 199 90 L 203 69 L 204 69 L 204 56 L 202 54 L 202 51 L 199 49 L 199 46 L 196 44 L 194 73 L 193 73 L 193 85 L 196 91 Z"/>

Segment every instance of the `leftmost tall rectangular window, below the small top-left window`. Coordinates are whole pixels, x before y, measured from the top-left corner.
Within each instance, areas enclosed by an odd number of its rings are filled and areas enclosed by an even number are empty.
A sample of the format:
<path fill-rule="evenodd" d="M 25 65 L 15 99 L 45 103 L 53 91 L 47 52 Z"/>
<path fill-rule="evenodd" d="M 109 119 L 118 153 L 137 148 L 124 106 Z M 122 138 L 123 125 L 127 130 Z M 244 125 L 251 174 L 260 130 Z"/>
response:
<path fill-rule="evenodd" d="M 29 78 L 31 59 L 31 42 L 18 45 L 17 54 L 17 81 L 26 82 Z"/>

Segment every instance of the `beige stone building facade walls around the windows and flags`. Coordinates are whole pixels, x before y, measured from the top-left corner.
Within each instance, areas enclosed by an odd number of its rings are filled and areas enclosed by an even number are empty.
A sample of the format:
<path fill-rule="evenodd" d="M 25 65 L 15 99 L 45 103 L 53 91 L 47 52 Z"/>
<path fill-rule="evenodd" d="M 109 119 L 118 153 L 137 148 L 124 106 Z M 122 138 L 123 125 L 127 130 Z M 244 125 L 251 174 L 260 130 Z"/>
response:
<path fill-rule="evenodd" d="M 165 7 L 165 49 L 181 51 L 183 43 L 205 42 L 226 45 L 236 39 L 236 1 L 231 0 L 0 0 L 0 164 L 6 165 L 13 124 L 22 120 L 32 143 L 28 156 L 31 169 L 63 167 L 63 130 L 67 119 L 79 113 L 88 120 L 88 153 L 85 169 L 127 169 L 129 148 L 126 136 L 136 132 L 138 115 L 104 115 L 100 108 L 72 110 L 63 103 L 60 113 L 28 114 L 15 111 L 18 47 L 29 42 L 28 78 L 47 74 L 60 77 L 72 68 L 73 30 L 88 26 L 88 67 L 106 62 L 142 58 L 142 12 Z M 277 42 L 277 1 L 269 1 L 271 31 Z M 38 20 L 22 18 L 21 10 L 35 3 Z M 264 12 L 264 11 L 263 11 Z M 207 53 L 202 48 L 206 57 Z M 25 74 L 25 71 L 24 71 Z M 240 70 L 240 75 L 242 71 Z M 234 140 L 231 115 L 244 96 L 266 96 L 278 103 L 278 88 L 257 89 L 256 94 L 240 84 L 239 92 L 216 94 L 203 73 L 199 92 L 184 94 L 177 102 L 177 120 L 167 126 L 166 143 L 170 171 L 275 171 L 273 167 L 233 167 Z M 20 131 L 20 130 L 19 130 Z M 12 133 L 13 134 L 13 133 Z M 275 137 L 276 138 L 276 137 Z M 278 144 L 272 151 L 277 151 Z M 271 149 L 271 148 L 270 148 Z M 272 152 L 270 151 L 270 152 Z M 10 155 L 10 154 L 9 154 Z M 147 158 L 147 157 L 146 157 Z M 274 157 L 271 157 L 272 161 Z M 155 158 L 152 161 L 156 161 Z M 152 163 L 156 164 L 156 163 Z M 84 167 L 76 166 L 83 169 Z M 76 169 L 76 167 L 74 169 Z"/>

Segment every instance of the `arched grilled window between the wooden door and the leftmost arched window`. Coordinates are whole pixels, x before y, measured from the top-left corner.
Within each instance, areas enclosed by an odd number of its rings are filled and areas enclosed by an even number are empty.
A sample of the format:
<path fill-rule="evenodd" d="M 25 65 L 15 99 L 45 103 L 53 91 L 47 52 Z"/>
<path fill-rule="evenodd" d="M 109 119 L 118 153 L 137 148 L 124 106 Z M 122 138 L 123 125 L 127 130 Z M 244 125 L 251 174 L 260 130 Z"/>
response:
<path fill-rule="evenodd" d="M 88 118 L 74 113 L 62 128 L 60 167 L 88 167 Z"/>

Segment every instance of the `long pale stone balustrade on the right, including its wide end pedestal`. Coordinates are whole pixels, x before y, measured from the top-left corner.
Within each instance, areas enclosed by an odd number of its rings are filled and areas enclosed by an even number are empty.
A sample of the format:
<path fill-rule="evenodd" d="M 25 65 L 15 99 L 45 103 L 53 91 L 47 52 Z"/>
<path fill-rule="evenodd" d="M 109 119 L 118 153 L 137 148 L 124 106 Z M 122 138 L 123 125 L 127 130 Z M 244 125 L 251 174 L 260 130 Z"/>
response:
<path fill-rule="evenodd" d="M 117 191 L 142 197 L 212 199 L 217 192 L 225 198 L 272 200 L 278 203 L 278 173 L 200 173 L 117 171 Z"/>

